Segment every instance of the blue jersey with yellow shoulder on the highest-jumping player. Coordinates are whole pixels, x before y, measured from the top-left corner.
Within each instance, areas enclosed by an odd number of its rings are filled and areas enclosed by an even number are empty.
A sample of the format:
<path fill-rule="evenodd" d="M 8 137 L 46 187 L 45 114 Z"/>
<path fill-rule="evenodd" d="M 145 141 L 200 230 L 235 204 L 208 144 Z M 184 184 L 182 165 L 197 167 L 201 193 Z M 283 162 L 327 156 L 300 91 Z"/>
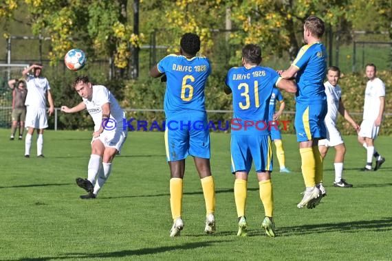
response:
<path fill-rule="evenodd" d="M 327 51 L 323 43 L 304 45 L 298 52 L 293 66 L 298 90 L 296 102 L 299 104 L 319 104 L 327 99 L 324 89 L 325 71 L 327 69 Z"/>

